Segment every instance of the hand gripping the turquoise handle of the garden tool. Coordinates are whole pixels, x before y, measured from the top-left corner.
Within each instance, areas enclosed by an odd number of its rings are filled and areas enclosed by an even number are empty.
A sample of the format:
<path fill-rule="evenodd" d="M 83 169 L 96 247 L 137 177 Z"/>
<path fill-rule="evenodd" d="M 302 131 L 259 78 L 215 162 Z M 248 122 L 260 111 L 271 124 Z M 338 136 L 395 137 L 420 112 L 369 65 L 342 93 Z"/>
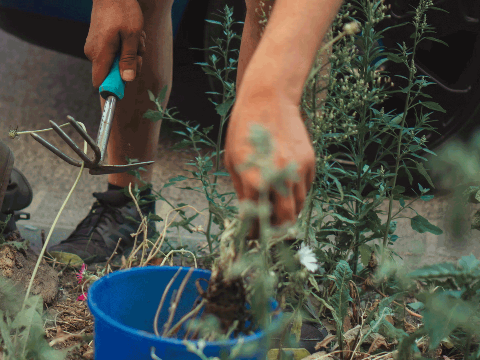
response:
<path fill-rule="evenodd" d="M 84 52 L 92 62 L 92 82 L 100 87 L 120 49 L 120 75 L 132 81 L 140 74 L 146 35 L 137 0 L 94 0 Z M 121 48 L 120 48 L 121 47 Z"/>

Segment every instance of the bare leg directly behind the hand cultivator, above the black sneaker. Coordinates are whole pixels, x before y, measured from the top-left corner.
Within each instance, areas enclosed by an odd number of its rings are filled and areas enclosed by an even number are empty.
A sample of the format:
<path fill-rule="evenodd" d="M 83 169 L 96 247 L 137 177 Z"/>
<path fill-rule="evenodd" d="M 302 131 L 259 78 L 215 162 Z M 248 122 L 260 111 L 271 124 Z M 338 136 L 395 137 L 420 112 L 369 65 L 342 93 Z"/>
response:
<path fill-rule="evenodd" d="M 143 56 L 141 76 L 127 83 L 125 96 L 117 103 L 113 118 L 110 138 L 108 140 L 108 163 L 112 165 L 127 164 L 125 156 L 139 161 L 155 158 L 158 146 L 161 121 L 152 122 L 144 119 L 147 109 L 156 110 L 156 105 L 148 98 L 147 90 L 155 95 L 168 85 L 167 96 L 162 107 L 165 108 L 172 85 L 173 40 L 171 8 L 173 0 L 139 0 L 144 15 L 146 34 L 145 54 Z M 100 96 L 103 109 L 105 100 Z M 150 182 L 153 165 L 141 171 L 142 180 Z M 127 173 L 109 174 L 108 182 L 125 187 L 142 184 Z"/>

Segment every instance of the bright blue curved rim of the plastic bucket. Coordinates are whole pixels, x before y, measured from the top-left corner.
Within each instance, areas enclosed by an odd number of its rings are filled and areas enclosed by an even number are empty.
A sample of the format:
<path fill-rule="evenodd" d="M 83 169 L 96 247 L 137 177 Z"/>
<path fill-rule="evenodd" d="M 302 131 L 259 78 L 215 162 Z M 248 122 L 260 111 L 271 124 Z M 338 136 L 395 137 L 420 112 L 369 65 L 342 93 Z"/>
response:
<path fill-rule="evenodd" d="M 160 268 L 163 269 L 175 269 L 178 270 L 180 267 L 183 267 L 184 269 L 188 269 L 186 266 L 159 266 L 159 265 L 153 265 L 153 266 L 145 266 L 145 267 L 135 267 L 135 268 L 130 268 L 130 269 L 122 269 L 122 270 L 117 270 L 114 271 L 113 273 L 110 273 L 106 276 L 100 277 L 98 280 L 96 280 L 90 289 L 88 290 L 88 295 L 87 295 L 87 303 L 88 303 L 88 308 L 90 309 L 90 312 L 92 312 L 92 315 L 95 317 L 95 321 L 101 320 L 103 322 L 106 322 L 107 324 L 110 324 L 110 326 L 113 326 L 117 328 L 117 330 L 123 331 L 129 335 L 132 336 L 140 336 L 144 338 L 148 338 L 149 340 L 154 340 L 154 341 L 159 341 L 161 340 L 162 342 L 167 342 L 170 345 L 177 345 L 177 346 L 185 346 L 182 342 L 183 340 L 179 339 L 173 339 L 170 337 L 164 337 L 164 336 L 156 336 L 154 333 L 148 333 L 144 330 L 139 330 L 135 329 L 132 326 L 128 326 L 125 324 L 120 323 L 118 320 L 115 320 L 111 316 L 107 315 L 105 312 L 100 310 L 98 305 L 96 304 L 95 301 L 95 289 L 102 286 L 103 283 L 111 279 L 112 277 L 122 277 L 126 272 L 137 272 L 137 273 L 149 273 L 155 270 L 159 270 Z M 205 270 L 205 269 L 199 269 L 195 268 L 194 271 L 199 271 L 203 272 L 206 274 L 211 274 L 212 272 L 210 270 Z M 275 301 L 275 300 L 274 300 Z M 281 314 L 276 315 L 276 318 L 274 319 L 273 322 L 278 322 L 280 321 Z M 273 323 L 272 322 L 272 323 Z M 206 346 L 217 346 L 217 347 L 233 347 L 237 344 L 240 338 L 243 338 L 245 341 L 248 339 L 248 342 L 251 341 L 256 341 L 260 340 L 264 336 L 266 336 L 269 332 L 265 330 L 260 330 L 256 332 L 253 335 L 248 335 L 248 336 L 239 336 L 235 339 L 228 339 L 228 340 L 218 340 L 218 341 L 207 341 Z M 198 340 L 189 340 L 193 344 L 197 345 Z"/>

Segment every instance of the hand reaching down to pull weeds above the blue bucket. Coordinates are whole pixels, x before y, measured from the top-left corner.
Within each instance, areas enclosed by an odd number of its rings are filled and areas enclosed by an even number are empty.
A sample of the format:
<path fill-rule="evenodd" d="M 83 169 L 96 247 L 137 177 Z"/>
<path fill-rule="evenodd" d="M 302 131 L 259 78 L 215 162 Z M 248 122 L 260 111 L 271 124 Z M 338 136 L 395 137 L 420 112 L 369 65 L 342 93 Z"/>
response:
<path fill-rule="evenodd" d="M 259 124 L 270 132 L 276 168 L 284 169 L 294 162 L 298 174 L 298 181 L 286 181 L 287 196 L 270 191 L 272 225 L 281 225 L 287 221 L 295 222 L 300 214 L 315 174 L 315 156 L 298 105 L 286 97 L 265 96 L 268 93 L 275 92 L 257 88 L 243 92 L 248 95 L 237 98 L 228 124 L 225 165 L 239 200 L 257 201 L 260 180 L 258 168 L 239 171 L 238 167 L 254 152 L 250 143 L 252 125 Z M 257 231 L 252 229 L 251 236 L 255 236 Z"/>

